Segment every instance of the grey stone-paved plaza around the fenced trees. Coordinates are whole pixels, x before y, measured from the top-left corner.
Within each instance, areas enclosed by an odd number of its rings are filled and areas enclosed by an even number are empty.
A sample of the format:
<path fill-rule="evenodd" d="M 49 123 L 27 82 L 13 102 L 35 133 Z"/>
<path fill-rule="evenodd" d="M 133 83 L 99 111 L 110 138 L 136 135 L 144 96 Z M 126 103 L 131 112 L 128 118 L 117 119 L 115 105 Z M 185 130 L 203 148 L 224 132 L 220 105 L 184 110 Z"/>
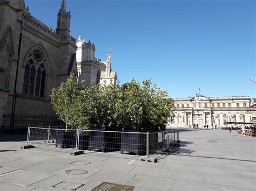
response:
<path fill-rule="evenodd" d="M 11 141 L 7 141 L 10 140 Z M 181 146 L 158 162 L 49 148 L 22 150 L 25 136 L 0 136 L 1 190 L 92 190 L 103 182 L 134 190 L 255 190 L 255 138 L 228 130 L 182 130 Z"/>

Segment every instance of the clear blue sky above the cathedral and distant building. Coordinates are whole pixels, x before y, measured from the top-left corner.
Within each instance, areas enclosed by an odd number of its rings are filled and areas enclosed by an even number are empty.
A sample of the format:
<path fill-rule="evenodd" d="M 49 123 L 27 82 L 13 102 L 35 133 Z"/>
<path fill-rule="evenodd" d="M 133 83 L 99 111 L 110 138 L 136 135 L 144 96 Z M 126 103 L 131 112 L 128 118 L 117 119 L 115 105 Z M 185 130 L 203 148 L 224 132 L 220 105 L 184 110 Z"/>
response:
<path fill-rule="evenodd" d="M 25 0 L 56 28 L 62 0 Z M 66 0 L 71 35 L 96 45 L 120 83 L 152 79 L 172 97 L 256 97 L 254 0 Z"/>

